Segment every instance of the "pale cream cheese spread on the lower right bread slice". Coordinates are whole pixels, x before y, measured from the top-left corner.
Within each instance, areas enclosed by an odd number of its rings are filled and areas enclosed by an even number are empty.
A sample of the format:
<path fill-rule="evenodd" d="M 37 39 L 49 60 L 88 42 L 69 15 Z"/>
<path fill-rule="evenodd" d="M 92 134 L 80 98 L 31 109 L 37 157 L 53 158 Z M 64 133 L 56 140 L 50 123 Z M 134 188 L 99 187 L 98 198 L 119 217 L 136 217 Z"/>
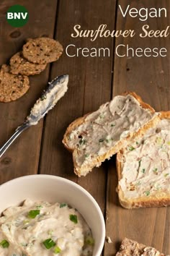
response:
<path fill-rule="evenodd" d="M 170 197 L 170 120 L 162 119 L 128 145 L 120 161 L 124 197 Z"/>

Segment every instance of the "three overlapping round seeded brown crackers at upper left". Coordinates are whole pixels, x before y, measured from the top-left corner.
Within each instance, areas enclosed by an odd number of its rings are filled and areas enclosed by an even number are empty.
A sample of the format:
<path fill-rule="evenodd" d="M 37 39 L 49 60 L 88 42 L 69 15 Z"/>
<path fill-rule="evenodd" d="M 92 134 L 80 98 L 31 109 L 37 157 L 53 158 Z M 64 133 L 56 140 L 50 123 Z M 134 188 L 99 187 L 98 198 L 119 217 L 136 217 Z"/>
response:
<path fill-rule="evenodd" d="M 48 63 L 57 61 L 63 46 L 52 38 L 28 39 L 22 51 L 14 54 L 9 66 L 0 69 L 0 101 L 16 101 L 30 88 L 28 76 L 40 74 Z"/>

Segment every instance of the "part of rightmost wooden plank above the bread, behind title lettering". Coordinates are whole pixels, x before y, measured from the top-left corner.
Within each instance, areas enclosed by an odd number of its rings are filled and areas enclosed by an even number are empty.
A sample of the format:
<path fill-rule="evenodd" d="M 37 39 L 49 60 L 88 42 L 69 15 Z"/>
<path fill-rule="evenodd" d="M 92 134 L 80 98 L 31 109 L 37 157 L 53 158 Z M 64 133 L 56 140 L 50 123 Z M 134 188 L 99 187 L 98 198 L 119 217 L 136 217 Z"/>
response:
<path fill-rule="evenodd" d="M 118 1 L 122 9 L 128 6 L 129 1 Z M 114 83 L 113 83 L 113 95 L 117 95 L 124 91 L 135 91 L 143 99 L 151 104 L 156 111 L 169 110 L 170 108 L 170 38 L 140 38 L 139 34 L 142 32 L 141 27 L 148 24 L 151 30 L 164 30 L 169 25 L 170 20 L 170 7 L 169 1 L 130 1 L 130 7 L 137 9 L 151 8 L 151 7 L 166 7 L 167 17 L 151 18 L 148 17 L 147 22 L 142 22 L 136 18 L 127 16 L 122 17 L 120 10 L 117 10 L 117 30 L 134 29 L 136 35 L 134 38 L 117 38 L 116 46 L 119 44 L 129 45 L 133 48 L 167 48 L 168 54 L 166 57 L 118 57 L 115 55 L 114 66 Z M 122 49 L 122 48 L 121 48 Z M 124 53 L 124 52 L 123 52 Z M 123 54 L 121 51 L 121 54 Z"/>

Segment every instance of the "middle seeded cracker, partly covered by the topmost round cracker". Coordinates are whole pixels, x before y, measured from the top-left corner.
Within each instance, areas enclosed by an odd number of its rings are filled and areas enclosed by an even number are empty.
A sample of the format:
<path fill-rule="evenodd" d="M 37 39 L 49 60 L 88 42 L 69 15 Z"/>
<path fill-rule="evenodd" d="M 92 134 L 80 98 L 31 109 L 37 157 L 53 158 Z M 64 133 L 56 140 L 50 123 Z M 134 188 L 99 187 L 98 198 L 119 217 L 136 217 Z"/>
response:
<path fill-rule="evenodd" d="M 22 52 L 19 51 L 10 59 L 10 66 L 12 74 L 33 75 L 40 74 L 45 69 L 46 64 L 35 64 L 27 61 L 22 56 Z"/>

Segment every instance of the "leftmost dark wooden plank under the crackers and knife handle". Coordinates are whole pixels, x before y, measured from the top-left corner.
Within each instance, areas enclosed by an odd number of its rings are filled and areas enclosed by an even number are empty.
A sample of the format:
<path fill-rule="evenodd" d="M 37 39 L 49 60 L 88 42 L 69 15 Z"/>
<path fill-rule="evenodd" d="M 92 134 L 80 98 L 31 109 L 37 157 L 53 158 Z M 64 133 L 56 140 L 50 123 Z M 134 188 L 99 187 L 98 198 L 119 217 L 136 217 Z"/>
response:
<path fill-rule="evenodd" d="M 30 13 L 30 19 L 24 27 L 15 28 L 6 22 L 6 10 L 16 1 L 1 1 L 0 6 L 0 64 L 6 63 L 10 57 L 19 51 L 26 38 L 36 38 L 48 35 L 53 38 L 55 25 L 55 9 L 57 2 L 50 1 L 26 1 L 24 6 Z M 23 4 L 18 1 L 17 4 Z M 32 104 L 42 93 L 48 82 L 48 68 L 39 75 L 30 78 L 30 90 L 18 101 L 12 103 L 0 103 L 0 144 L 3 145 L 12 135 L 30 111 Z M 0 184 L 17 176 L 36 174 L 40 142 L 42 136 L 42 121 L 36 127 L 25 131 L 6 151 L 0 159 Z"/>

